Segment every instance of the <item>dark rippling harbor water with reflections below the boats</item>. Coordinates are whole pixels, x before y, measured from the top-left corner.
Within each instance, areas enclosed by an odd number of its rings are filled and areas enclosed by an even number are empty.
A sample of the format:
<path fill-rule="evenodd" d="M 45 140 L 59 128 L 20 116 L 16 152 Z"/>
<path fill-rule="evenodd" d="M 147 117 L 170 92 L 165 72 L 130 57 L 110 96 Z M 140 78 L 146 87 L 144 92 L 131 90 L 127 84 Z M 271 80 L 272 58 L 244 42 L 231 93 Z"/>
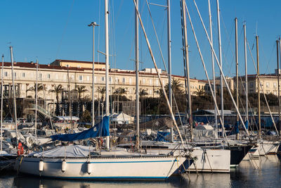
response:
<path fill-rule="evenodd" d="M 54 180 L 6 173 L 0 187 L 281 187 L 281 158 L 277 155 L 242 161 L 230 173 L 185 174 L 167 182 Z"/>

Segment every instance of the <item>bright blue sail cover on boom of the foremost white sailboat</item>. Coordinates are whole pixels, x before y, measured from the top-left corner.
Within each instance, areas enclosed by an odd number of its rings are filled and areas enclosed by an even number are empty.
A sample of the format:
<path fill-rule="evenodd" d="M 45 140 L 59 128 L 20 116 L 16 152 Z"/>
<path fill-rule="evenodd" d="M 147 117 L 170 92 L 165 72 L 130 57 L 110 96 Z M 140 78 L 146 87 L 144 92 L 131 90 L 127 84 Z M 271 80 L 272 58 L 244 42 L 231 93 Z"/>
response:
<path fill-rule="evenodd" d="M 91 127 L 89 130 L 84 130 L 74 134 L 55 134 L 51 136 L 53 141 L 74 141 L 79 139 L 89 139 L 94 137 L 106 137 L 110 135 L 110 117 L 105 116 L 103 120 Z"/>

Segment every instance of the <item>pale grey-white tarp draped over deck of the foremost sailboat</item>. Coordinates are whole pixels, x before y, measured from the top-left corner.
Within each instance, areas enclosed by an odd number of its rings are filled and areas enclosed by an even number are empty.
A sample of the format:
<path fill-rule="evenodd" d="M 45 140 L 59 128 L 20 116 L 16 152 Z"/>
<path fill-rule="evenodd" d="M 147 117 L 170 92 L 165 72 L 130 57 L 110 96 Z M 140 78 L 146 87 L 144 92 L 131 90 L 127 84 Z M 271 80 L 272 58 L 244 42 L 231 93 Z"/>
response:
<path fill-rule="evenodd" d="M 80 146 L 80 145 L 73 145 L 73 146 L 60 146 L 55 149 L 51 149 L 48 151 L 43 152 L 35 152 L 31 153 L 29 156 L 36 156 L 36 157 L 86 157 L 89 156 L 89 149 L 90 151 L 93 150 L 92 147 L 89 146 Z"/>

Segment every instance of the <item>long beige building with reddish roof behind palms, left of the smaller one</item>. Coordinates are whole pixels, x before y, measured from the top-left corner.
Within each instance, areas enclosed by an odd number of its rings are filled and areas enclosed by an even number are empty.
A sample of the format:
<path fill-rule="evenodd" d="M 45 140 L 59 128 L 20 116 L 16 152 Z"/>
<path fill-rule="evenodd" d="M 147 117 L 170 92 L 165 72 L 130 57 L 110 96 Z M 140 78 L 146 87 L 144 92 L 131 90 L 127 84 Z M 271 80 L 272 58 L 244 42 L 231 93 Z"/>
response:
<path fill-rule="evenodd" d="M 34 92 L 28 91 L 34 87 L 36 80 L 36 63 L 14 63 L 14 78 L 15 87 L 18 98 L 27 98 L 28 96 L 34 97 Z M 70 82 L 70 90 L 75 89 L 79 85 L 86 87 L 86 92 L 82 97 L 91 96 L 92 85 L 92 65 L 90 61 L 69 61 L 69 60 L 55 60 L 49 65 L 40 64 L 38 72 L 38 82 L 43 84 L 46 91 L 39 92 L 38 96 L 42 99 L 55 101 L 55 94 L 48 92 L 53 89 L 55 85 L 62 84 L 63 88 L 67 90 L 68 78 Z M 168 83 L 166 71 L 159 69 L 162 76 L 163 84 Z M 145 89 L 148 92 L 148 97 L 157 97 L 159 94 L 157 90 L 160 89 L 159 79 L 155 68 L 145 68 L 139 73 L 140 90 Z M 175 80 L 180 80 L 184 89 L 184 77 L 172 75 Z M 136 90 L 136 73 L 134 70 L 121 70 L 118 68 L 110 68 L 110 94 L 115 92 L 115 89 L 122 87 L 126 89 L 126 96 L 128 99 L 135 99 Z M 98 87 L 105 86 L 105 63 L 95 63 L 95 92 L 94 99 L 100 99 Z M 195 94 L 198 89 L 205 89 L 206 81 L 203 80 L 190 80 L 190 87 L 192 94 Z M 11 63 L 4 63 L 4 85 L 5 90 L 11 95 L 12 76 L 11 76 Z M 8 89 L 9 88 L 9 89 Z M 61 97 L 61 96 L 60 96 Z"/>

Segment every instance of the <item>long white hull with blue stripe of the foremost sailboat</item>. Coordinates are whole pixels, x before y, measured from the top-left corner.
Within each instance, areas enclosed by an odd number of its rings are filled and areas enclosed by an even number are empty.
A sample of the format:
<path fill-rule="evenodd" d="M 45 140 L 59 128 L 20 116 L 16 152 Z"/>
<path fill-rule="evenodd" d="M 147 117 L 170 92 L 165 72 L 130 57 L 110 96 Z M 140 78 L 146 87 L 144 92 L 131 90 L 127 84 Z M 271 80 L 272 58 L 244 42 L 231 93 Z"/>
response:
<path fill-rule="evenodd" d="M 39 171 L 39 161 L 44 168 Z M 63 160 L 66 161 L 62 171 Z M 132 157 L 132 158 L 18 158 L 15 170 L 43 177 L 96 180 L 166 180 L 185 157 Z M 91 163 L 88 169 L 88 163 Z M 91 171 L 89 174 L 88 172 Z"/>

